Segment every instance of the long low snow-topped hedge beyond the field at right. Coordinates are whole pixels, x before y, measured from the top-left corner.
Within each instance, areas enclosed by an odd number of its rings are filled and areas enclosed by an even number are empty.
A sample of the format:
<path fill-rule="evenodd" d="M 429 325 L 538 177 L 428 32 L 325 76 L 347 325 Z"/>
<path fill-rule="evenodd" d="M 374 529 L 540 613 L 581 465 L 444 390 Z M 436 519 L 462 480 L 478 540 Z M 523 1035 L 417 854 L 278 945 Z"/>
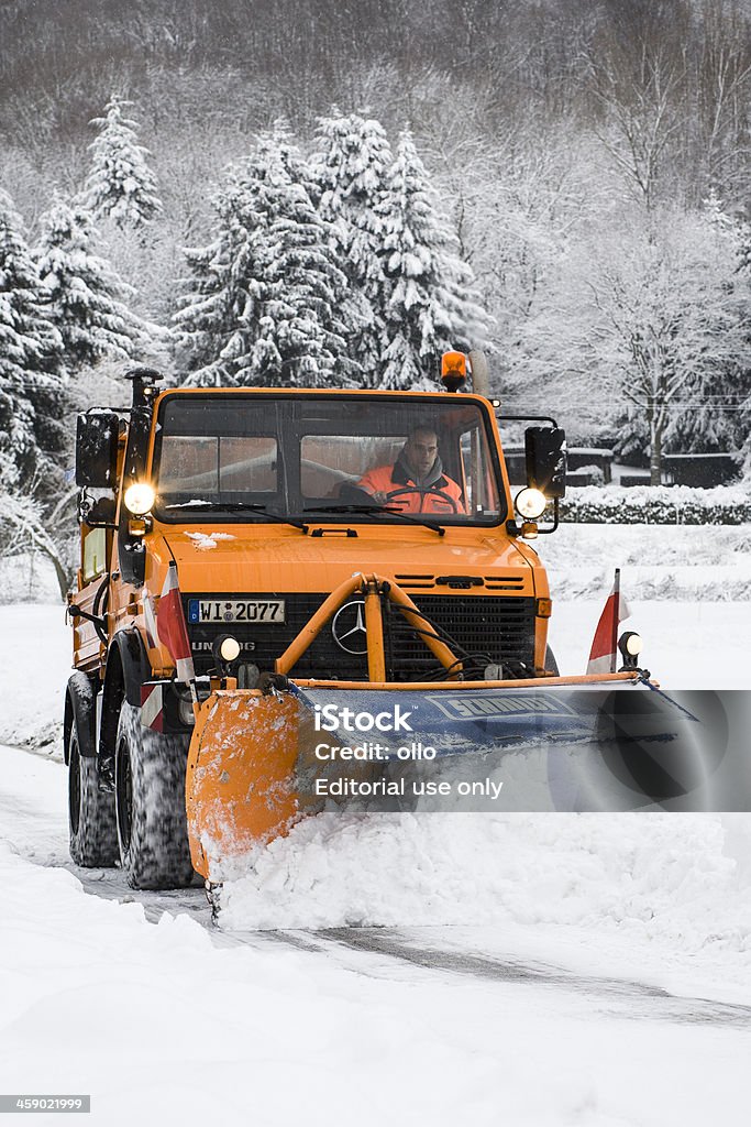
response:
<path fill-rule="evenodd" d="M 566 491 L 561 517 L 581 524 L 746 524 L 751 486 L 584 486 Z"/>

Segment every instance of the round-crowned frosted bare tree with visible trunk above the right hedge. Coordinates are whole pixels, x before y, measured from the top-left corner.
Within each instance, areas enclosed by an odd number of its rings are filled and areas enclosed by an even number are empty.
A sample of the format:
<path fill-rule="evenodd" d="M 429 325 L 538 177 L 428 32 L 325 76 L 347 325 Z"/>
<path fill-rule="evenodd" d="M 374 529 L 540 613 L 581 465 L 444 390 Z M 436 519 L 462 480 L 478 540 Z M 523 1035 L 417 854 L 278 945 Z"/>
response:
<path fill-rule="evenodd" d="M 671 428 L 731 393 L 751 361 L 748 283 L 735 238 L 706 214 L 661 207 L 653 222 L 592 232 L 558 279 L 557 316 L 540 327 L 540 361 L 574 401 L 626 408 L 641 429 L 651 481 Z"/>

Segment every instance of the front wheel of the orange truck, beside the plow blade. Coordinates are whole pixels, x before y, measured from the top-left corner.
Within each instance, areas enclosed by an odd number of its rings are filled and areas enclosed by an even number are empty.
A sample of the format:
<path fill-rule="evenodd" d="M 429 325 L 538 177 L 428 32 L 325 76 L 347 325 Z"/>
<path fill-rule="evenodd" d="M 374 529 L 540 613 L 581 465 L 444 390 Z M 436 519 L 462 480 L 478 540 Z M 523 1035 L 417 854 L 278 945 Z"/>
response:
<path fill-rule="evenodd" d="M 120 863 L 131 888 L 186 888 L 193 881 L 185 808 L 189 739 L 161 736 L 123 701 L 115 749 Z"/>

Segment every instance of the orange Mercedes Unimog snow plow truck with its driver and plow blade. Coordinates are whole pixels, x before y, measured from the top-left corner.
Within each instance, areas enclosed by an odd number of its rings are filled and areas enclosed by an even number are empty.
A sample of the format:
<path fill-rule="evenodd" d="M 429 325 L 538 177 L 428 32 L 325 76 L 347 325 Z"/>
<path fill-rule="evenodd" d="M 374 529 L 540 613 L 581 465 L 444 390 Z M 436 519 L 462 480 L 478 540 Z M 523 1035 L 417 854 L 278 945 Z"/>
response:
<path fill-rule="evenodd" d="M 77 863 L 217 882 L 323 805 L 301 783 L 322 736 L 391 733 L 383 774 L 403 731 L 452 754 L 518 743 L 546 693 L 644 682 L 625 650 L 619 673 L 557 675 L 529 541 L 557 525 L 564 435 L 524 420 L 512 497 L 470 370 L 447 353 L 442 387 L 413 392 L 160 391 L 134 369 L 128 410 L 79 416 Z"/>

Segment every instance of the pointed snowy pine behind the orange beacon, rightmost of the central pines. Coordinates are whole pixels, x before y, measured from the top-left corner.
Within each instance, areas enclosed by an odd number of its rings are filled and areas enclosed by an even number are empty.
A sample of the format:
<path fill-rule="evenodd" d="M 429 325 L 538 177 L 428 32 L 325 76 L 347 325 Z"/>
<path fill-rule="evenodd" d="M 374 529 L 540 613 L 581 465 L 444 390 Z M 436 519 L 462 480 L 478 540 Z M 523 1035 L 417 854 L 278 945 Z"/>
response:
<path fill-rule="evenodd" d="M 409 130 L 400 134 L 377 214 L 388 283 L 381 387 L 435 388 L 440 354 L 482 347 L 489 319 Z"/>

